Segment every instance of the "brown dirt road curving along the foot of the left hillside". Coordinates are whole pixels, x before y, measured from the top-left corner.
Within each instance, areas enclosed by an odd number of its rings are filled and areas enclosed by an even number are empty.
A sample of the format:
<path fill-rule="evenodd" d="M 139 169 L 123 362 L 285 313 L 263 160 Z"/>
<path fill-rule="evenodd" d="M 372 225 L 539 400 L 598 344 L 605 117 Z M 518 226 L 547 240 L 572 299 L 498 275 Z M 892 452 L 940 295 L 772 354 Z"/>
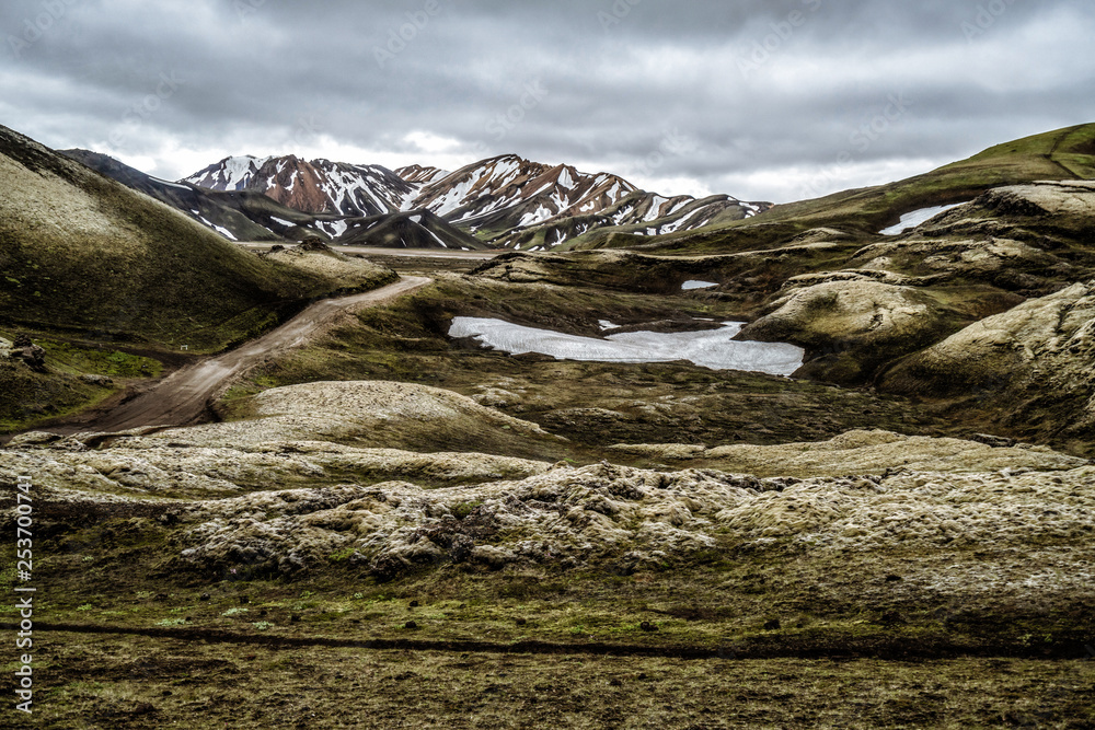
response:
<path fill-rule="evenodd" d="M 115 432 L 150 426 L 186 426 L 197 420 L 214 394 L 272 352 L 298 347 L 343 312 L 378 306 L 430 283 L 403 277 L 393 285 L 351 297 L 324 299 L 258 339 L 223 355 L 177 370 L 136 398 L 81 426 L 83 431 Z"/>

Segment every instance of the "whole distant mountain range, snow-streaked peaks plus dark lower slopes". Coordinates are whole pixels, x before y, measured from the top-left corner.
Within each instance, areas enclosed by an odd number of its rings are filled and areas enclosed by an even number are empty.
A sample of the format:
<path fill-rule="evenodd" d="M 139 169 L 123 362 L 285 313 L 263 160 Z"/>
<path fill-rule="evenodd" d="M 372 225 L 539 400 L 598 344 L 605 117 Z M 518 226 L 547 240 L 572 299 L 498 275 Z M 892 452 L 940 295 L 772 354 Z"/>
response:
<path fill-rule="evenodd" d="M 546 251 L 593 231 L 659 235 L 771 208 L 727 195 L 661 196 L 616 175 L 514 154 L 456 172 L 244 155 L 170 182 L 95 152 L 64 153 L 235 241 Z"/>

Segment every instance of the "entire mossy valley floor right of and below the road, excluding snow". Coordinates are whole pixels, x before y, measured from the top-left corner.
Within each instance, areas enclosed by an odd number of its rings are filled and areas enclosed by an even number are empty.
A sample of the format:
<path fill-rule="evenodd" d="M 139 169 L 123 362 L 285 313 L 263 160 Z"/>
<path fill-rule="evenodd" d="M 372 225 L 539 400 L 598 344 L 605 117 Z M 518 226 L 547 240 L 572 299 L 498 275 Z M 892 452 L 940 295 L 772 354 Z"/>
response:
<path fill-rule="evenodd" d="M 4 502 L 36 489 L 22 726 L 1095 727 L 1085 457 L 943 402 L 452 341 L 737 314 L 470 265 L 403 260 L 435 282 L 269 354 L 221 422 L 0 451 Z"/>

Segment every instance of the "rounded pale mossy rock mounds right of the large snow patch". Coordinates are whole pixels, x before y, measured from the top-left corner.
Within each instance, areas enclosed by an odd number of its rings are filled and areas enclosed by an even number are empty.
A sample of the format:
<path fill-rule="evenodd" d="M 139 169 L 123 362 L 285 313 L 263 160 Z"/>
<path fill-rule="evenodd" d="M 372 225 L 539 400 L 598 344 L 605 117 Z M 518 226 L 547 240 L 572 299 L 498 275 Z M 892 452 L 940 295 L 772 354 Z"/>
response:
<path fill-rule="evenodd" d="M 874 383 L 901 357 L 1095 276 L 1093 223 L 1092 182 L 991 189 L 911 234 L 850 251 L 841 268 L 791 276 L 740 337 L 807 348 L 799 376 Z"/>

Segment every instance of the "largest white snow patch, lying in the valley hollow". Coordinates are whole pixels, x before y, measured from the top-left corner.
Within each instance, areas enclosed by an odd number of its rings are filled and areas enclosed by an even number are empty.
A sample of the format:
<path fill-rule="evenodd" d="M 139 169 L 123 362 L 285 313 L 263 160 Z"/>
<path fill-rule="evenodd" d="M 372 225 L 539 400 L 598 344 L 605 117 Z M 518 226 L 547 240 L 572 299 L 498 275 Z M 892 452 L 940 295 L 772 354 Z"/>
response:
<path fill-rule="evenodd" d="M 803 364 L 805 350 L 779 343 L 742 343 L 734 337 L 745 326 L 724 322 L 721 329 L 704 332 L 632 332 L 607 339 L 579 337 L 549 329 L 510 324 L 502 320 L 457 317 L 450 337 L 474 337 L 487 347 L 522 355 L 539 352 L 561 360 L 583 362 L 675 362 L 689 360 L 713 370 L 745 370 L 789 375 Z"/>

